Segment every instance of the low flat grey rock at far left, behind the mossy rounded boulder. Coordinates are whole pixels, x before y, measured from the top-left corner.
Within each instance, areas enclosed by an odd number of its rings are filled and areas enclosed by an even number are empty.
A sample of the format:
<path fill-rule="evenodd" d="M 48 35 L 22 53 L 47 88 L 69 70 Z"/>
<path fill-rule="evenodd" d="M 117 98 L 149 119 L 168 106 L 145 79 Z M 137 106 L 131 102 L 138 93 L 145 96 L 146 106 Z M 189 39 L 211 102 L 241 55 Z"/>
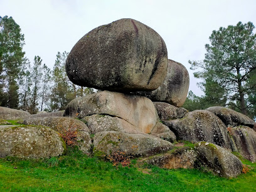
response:
<path fill-rule="evenodd" d="M 0 107 L 0 119 L 16 120 L 29 116 L 28 112 L 7 107 Z"/>

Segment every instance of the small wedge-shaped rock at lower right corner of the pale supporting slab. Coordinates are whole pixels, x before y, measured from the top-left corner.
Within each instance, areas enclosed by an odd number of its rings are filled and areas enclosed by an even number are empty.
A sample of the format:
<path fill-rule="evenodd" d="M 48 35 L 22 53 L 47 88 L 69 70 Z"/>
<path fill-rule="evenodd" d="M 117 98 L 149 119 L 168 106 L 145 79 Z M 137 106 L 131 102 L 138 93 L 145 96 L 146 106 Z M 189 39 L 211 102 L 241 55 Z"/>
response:
<path fill-rule="evenodd" d="M 151 131 L 152 136 L 160 137 L 169 142 L 176 141 L 176 136 L 174 132 L 172 132 L 166 125 L 162 124 L 161 122 L 157 122 L 154 129 Z"/>

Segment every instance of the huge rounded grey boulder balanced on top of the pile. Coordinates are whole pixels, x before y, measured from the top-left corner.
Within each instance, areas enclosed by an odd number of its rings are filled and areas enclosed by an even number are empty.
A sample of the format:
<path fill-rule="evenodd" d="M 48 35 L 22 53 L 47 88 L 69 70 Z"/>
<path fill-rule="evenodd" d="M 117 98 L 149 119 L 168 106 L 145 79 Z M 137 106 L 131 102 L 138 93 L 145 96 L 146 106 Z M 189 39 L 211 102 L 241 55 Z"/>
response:
<path fill-rule="evenodd" d="M 68 78 L 84 87 L 131 92 L 155 90 L 166 76 L 168 55 L 156 31 L 134 19 L 99 26 L 73 46 Z"/>

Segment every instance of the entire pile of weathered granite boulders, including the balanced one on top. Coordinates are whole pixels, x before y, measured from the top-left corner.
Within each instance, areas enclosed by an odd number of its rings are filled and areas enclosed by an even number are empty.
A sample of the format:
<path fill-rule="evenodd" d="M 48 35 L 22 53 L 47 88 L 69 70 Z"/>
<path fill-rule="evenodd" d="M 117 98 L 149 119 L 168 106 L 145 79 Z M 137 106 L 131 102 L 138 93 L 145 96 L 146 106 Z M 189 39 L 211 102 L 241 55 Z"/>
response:
<path fill-rule="evenodd" d="M 0 156 L 58 156 L 65 151 L 58 136 L 72 136 L 69 142 L 85 154 L 122 151 L 163 168 L 203 167 L 227 178 L 242 173 L 242 162 L 231 152 L 256 161 L 255 122 L 224 107 L 193 112 L 181 108 L 188 93 L 188 71 L 168 60 L 163 38 L 139 21 L 120 19 L 88 32 L 70 51 L 66 71 L 73 83 L 101 91 L 72 100 L 65 111 L 14 113 L 13 118 L 35 127 L 0 126 Z M 27 136 L 29 130 L 33 134 Z M 56 154 L 36 156 L 38 151 L 28 152 L 33 147 L 16 150 L 22 139 L 29 147 L 45 142 L 42 131 L 53 133 L 49 138 Z M 184 141 L 193 147 L 184 147 Z"/>

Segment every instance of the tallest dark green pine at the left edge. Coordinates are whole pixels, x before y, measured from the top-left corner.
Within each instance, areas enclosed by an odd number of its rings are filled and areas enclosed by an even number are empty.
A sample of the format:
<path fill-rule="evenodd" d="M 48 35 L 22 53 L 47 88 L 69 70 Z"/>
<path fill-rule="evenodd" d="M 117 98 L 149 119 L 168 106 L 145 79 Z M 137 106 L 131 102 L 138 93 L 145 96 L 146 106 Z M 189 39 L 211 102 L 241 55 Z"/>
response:
<path fill-rule="evenodd" d="M 0 99 L 1 106 L 17 108 L 18 75 L 24 65 L 24 35 L 12 17 L 0 16 Z"/>

